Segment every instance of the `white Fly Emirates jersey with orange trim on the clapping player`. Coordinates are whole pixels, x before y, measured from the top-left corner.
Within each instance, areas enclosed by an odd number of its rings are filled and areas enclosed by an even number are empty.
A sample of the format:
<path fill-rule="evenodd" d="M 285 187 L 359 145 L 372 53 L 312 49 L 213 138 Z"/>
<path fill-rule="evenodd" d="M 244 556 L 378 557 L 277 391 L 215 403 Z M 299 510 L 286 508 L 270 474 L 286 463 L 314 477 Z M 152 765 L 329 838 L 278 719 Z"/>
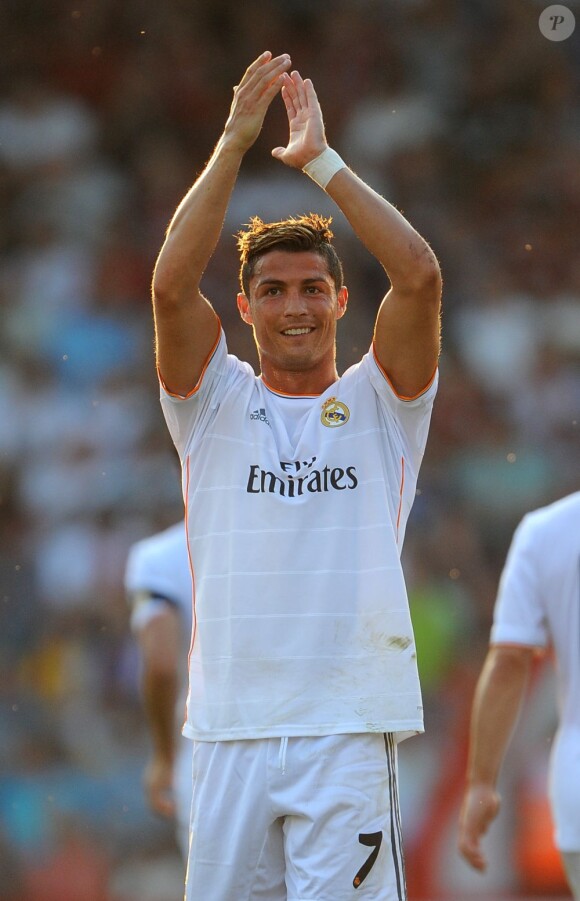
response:
<path fill-rule="evenodd" d="M 400 551 L 435 391 L 397 397 L 369 352 L 282 395 L 223 333 L 187 398 L 162 389 L 194 574 L 185 734 L 423 730 Z"/>

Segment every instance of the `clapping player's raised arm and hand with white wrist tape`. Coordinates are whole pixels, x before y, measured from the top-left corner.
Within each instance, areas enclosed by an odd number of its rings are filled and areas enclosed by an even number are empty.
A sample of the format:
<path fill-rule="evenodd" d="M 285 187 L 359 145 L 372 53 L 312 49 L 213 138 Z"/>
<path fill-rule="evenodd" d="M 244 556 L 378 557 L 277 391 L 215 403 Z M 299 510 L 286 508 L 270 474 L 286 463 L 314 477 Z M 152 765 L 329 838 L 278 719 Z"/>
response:
<path fill-rule="evenodd" d="M 292 72 L 282 80 L 290 138 L 272 154 L 303 169 L 328 147 L 322 112 L 310 79 Z M 435 255 L 404 216 L 346 165 L 325 190 L 391 282 L 375 323 L 375 353 L 397 393 L 414 397 L 428 385 L 439 357 L 441 274 Z"/>

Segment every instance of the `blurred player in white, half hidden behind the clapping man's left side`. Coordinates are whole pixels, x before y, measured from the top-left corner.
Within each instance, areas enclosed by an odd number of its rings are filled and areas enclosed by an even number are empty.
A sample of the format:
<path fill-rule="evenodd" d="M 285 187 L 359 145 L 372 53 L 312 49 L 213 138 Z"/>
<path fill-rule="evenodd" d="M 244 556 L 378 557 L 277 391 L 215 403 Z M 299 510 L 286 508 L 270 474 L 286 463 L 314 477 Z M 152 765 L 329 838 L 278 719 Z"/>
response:
<path fill-rule="evenodd" d="M 185 716 L 192 583 L 184 523 L 136 542 L 125 589 L 142 659 L 142 696 L 153 755 L 144 773 L 151 808 L 175 817 L 187 861 L 192 745 L 179 734 Z"/>

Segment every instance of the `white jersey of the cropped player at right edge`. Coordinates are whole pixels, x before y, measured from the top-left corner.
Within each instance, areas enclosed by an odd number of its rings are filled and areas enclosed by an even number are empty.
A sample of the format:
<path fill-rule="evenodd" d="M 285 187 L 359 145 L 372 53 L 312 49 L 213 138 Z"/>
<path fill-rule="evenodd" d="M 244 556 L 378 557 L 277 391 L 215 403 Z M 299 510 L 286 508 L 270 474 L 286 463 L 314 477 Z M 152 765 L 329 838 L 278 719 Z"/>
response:
<path fill-rule="evenodd" d="M 550 797 L 557 846 L 580 851 L 580 492 L 529 513 L 516 529 L 491 639 L 554 647 L 560 725 Z"/>

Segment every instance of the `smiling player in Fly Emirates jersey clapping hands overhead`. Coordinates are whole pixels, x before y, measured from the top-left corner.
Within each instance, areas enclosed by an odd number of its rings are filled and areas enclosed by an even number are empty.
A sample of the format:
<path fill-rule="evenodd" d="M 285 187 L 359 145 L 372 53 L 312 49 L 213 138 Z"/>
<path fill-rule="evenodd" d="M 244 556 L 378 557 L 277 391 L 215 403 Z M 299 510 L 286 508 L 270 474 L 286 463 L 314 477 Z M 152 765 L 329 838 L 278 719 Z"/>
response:
<path fill-rule="evenodd" d="M 396 748 L 423 730 L 400 551 L 436 391 L 440 272 L 328 147 L 314 87 L 290 66 L 264 53 L 246 70 L 153 279 L 195 586 L 186 898 L 400 901 Z M 227 354 L 200 291 L 280 90 L 290 134 L 273 156 L 326 190 L 391 283 L 371 350 L 342 377 L 348 294 L 327 220 L 254 218 L 239 236 L 260 376 Z M 265 865 L 279 887 L 262 894 Z"/>

